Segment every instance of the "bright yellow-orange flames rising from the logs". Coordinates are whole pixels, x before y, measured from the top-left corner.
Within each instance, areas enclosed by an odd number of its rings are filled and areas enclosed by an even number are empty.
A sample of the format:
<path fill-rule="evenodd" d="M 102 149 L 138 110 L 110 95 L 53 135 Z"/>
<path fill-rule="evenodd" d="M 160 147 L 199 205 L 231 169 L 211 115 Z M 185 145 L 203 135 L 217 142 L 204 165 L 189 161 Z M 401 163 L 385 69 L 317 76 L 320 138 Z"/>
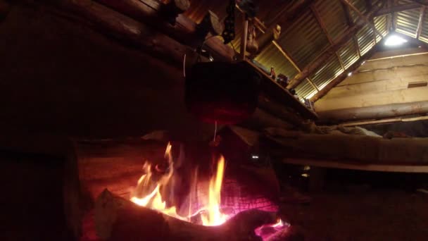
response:
<path fill-rule="evenodd" d="M 137 182 L 137 187 L 132 194 L 131 201 L 139 206 L 146 206 L 150 209 L 159 211 L 168 216 L 172 216 L 175 218 L 179 218 L 183 221 L 191 221 L 191 218 L 194 216 L 200 216 L 202 225 L 221 225 L 227 221 L 228 216 L 221 212 L 220 206 L 220 192 L 222 188 L 222 180 L 225 173 L 225 159 L 223 156 L 218 160 L 217 169 L 215 175 L 210 178 L 209 186 L 208 186 L 208 197 L 205 200 L 199 200 L 199 204 L 202 204 L 203 207 L 196 211 L 196 213 L 191 214 L 191 202 L 189 202 L 189 215 L 188 216 L 180 216 L 177 214 L 177 207 L 170 206 L 167 207 L 165 199 L 162 195 L 161 190 L 168 190 L 168 187 L 174 187 L 174 183 L 172 183 L 172 175 L 174 173 L 174 162 L 171 154 L 171 144 L 168 143 L 165 150 L 165 158 L 168 159 L 168 168 L 165 174 L 155 180 L 153 177 L 153 173 L 151 172 L 152 166 L 148 163 L 144 164 L 144 171 L 146 174 L 141 175 Z M 197 175 L 197 170 L 195 171 L 195 175 Z M 153 183 L 156 183 L 156 187 L 153 188 Z M 141 193 L 149 193 L 144 197 L 141 196 Z M 189 193 L 189 197 L 191 197 L 191 193 Z"/>

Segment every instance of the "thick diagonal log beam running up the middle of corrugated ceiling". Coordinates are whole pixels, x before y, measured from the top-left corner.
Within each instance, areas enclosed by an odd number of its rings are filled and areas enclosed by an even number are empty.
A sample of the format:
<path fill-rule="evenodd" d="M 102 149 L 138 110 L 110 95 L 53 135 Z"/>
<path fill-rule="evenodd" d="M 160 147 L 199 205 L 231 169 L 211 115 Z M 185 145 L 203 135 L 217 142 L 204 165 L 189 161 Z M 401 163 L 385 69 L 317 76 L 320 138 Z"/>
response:
<path fill-rule="evenodd" d="M 374 6 L 373 10 L 370 11 L 365 15 L 365 18 L 370 18 L 373 16 L 374 13 L 379 11 L 379 9 L 382 8 L 383 5 L 376 5 Z M 338 51 L 344 44 L 346 44 L 349 40 L 353 39 L 354 35 L 360 31 L 364 27 L 364 23 L 355 23 L 353 26 L 348 28 L 346 32 L 344 32 L 344 35 L 342 35 L 339 40 L 335 42 L 334 45 L 327 48 L 320 56 L 315 58 L 314 61 L 312 61 L 308 66 L 302 69 L 301 73 L 296 75 L 291 81 L 289 86 L 287 86 L 288 89 L 295 88 L 297 85 L 299 85 L 303 80 L 308 78 L 308 76 L 312 75 L 316 70 L 318 70 L 325 62 L 334 55 L 336 51 Z"/>

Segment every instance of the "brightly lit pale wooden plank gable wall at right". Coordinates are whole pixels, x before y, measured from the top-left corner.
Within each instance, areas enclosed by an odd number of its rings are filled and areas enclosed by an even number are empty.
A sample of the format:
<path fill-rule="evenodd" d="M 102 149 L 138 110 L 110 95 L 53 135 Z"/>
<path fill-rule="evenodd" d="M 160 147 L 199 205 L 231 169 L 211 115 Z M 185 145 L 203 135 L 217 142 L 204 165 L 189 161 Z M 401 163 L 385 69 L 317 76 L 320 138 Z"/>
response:
<path fill-rule="evenodd" d="M 358 116 L 358 109 L 374 110 L 374 108 L 377 112 L 383 110 L 389 113 L 385 115 L 379 113 L 372 118 L 403 116 L 409 113 L 401 113 L 401 111 L 394 113 L 394 109 L 398 109 L 394 104 L 401 107 L 413 106 L 413 109 L 424 106 L 425 101 L 428 101 L 428 87 L 408 88 L 408 84 L 427 82 L 427 80 L 428 52 L 426 50 L 405 49 L 379 52 L 317 101 L 315 109 L 322 119 L 370 118 L 367 114 Z"/>

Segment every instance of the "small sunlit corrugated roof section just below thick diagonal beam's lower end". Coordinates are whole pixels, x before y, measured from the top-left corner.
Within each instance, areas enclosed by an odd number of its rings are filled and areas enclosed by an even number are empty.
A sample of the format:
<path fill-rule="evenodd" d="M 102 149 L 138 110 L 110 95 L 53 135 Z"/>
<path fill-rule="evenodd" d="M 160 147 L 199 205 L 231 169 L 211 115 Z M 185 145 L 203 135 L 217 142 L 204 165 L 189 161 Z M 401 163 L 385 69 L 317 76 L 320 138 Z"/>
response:
<path fill-rule="evenodd" d="M 325 66 L 322 66 L 322 68 L 311 75 L 310 79 L 317 85 L 318 89 L 322 89 L 343 72 L 344 69 L 341 68 L 339 58 L 333 56 L 325 63 Z"/>

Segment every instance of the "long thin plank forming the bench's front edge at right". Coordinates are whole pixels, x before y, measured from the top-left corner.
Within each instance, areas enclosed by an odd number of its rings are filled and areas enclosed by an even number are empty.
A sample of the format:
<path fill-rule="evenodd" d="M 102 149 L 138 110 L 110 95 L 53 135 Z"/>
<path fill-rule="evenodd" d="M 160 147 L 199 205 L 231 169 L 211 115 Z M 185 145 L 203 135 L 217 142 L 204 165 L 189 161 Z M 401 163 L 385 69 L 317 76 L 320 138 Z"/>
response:
<path fill-rule="evenodd" d="M 351 169 L 360 171 L 382 171 L 382 172 L 396 172 L 396 173 L 428 173 L 428 166 L 424 165 L 386 165 L 375 163 L 356 163 L 355 161 L 332 161 L 332 160 L 318 160 L 318 159 L 282 159 L 283 163 L 317 166 L 323 168 L 339 168 Z"/>

